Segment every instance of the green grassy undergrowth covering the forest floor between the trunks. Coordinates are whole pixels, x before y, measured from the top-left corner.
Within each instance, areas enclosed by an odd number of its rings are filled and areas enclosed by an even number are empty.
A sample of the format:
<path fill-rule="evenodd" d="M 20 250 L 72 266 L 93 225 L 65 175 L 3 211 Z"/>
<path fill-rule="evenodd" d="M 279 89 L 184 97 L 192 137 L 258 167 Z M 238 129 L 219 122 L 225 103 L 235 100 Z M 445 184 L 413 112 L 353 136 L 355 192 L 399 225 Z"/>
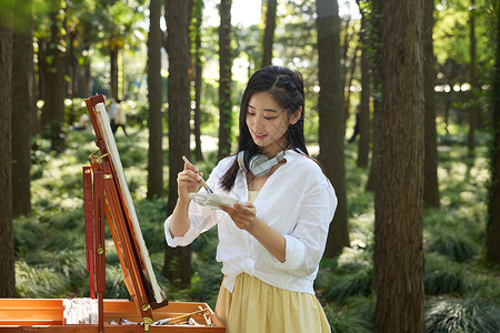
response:
<path fill-rule="evenodd" d="M 22 297 L 88 296 L 81 167 L 96 150 L 90 132 L 69 132 L 60 155 L 37 139 L 32 153 L 32 216 L 14 220 L 17 291 Z M 167 140 L 166 140 L 167 141 Z M 488 168 L 486 148 L 474 159 L 444 138 L 439 149 L 439 209 L 424 212 L 426 325 L 428 332 L 500 332 L 499 269 L 484 260 Z M 164 143 L 167 144 L 167 143 Z M 167 200 L 147 200 L 146 131 L 117 135 L 128 185 L 157 279 L 171 301 L 203 301 L 212 309 L 222 275 L 214 261 L 217 231 L 192 245 L 194 274 L 186 290 L 174 290 L 161 275 Z M 164 161 L 167 163 L 167 154 Z M 197 165 L 209 174 L 213 151 Z M 351 248 L 336 260 L 323 260 L 316 290 L 332 332 L 372 332 L 376 295 L 372 290 L 373 195 L 364 191 L 368 169 L 356 167 L 356 144 L 346 144 L 346 170 Z M 164 170 L 168 181 L 168 168 Z M 109 233 L 109 232 L 107 232 Z M 129 297 L 118 255 L 107 234 L 107 297 Z"/>

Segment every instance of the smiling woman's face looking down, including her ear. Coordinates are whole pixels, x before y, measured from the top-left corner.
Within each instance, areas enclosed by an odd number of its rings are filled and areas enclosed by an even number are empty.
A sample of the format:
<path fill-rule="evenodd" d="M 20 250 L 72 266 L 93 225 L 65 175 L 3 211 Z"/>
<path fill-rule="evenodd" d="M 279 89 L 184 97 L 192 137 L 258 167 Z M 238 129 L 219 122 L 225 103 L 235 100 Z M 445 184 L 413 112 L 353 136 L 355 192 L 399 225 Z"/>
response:
<path fill-rule="evenodd" d="M 246 121 L 253 142 L 260 147 L 263 154 L 273 158 L 287 148 L 284 133 L 290 124 L 299 121 L 301 112 L 300 109 L 289 117 L 288 111 L 281 108 L 269 93 L 252 94 L 248 103 Z"/>

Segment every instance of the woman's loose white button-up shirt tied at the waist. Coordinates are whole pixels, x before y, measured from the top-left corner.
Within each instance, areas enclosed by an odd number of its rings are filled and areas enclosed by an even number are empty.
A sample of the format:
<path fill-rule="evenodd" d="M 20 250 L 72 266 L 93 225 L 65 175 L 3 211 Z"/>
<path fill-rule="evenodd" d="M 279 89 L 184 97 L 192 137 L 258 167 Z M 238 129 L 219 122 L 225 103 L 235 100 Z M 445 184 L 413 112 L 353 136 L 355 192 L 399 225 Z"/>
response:
<path fill-rule="evenodd" d="M 224 191 L 220 179 L 236 157 L 229 157 L 213 169 L 207 183 L 214 193 L 248 201 L 247 176 L 238 171 L 234 186 Z M 190 244 L 200 233 L 218 225 L 217 261 L 227 275 L 223 285 L 232 292 L 236 276 L 248 273 L 273 286 L 314 294 L 313 282 L 324 252 L 330 222 L 337 209 L 334 190 L 311 159 L 288 150 L 287 163 L 266 181 L 253 202 L 257 216 L 286 239 L 286 261 L 280 262 L 250 233 L 234 225 L 221 210 L 211 210 L 194 202 L 189 205 L 189 230 L 182 236 L 170 234 L 170 216 L 164 222 L 167 243 Z M 204 191 L 204 189 L 200 189 Z"/>

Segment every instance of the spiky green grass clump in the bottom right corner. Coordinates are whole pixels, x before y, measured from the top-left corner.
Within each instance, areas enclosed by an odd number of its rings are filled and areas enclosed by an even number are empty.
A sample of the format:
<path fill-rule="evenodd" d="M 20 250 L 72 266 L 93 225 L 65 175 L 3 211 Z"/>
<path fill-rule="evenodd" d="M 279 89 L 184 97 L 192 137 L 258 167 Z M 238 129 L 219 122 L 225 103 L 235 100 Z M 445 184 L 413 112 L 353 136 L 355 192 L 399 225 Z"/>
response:
<path fill-rule="evenodd" d="M 500 307 L 479 300 L 438 301 L 426 313 L 428 333 L 500 332 Z"/>

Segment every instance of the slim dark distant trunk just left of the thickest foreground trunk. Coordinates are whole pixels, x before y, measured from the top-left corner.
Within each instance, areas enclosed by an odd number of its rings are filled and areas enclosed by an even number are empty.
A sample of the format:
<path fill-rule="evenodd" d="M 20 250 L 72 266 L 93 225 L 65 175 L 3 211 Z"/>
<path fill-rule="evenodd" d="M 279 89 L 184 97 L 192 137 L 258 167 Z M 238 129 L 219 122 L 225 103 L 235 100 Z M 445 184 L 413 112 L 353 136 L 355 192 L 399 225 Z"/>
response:
<path fill-rule="evenodd" d="M 367 44 L 367 18 L 361 17 L 360 42 L 361 49 L 361 98 L 359 110 L 359 143 L 358 143 L 358 167 L 368 167 L 368 154 L 370 152 L 370 73 L 368 64 Z"/>

